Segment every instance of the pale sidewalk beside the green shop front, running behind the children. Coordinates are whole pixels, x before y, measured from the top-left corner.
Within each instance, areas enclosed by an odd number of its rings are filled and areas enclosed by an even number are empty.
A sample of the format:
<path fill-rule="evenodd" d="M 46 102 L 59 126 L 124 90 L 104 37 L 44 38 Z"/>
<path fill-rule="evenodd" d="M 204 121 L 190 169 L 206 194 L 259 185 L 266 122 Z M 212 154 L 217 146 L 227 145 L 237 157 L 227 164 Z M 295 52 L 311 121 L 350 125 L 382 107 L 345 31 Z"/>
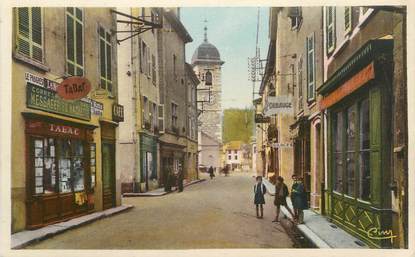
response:
<path fill-rule="evenodd" d="M 275 195 L 275 186 L 267 179 L 263 180 L 270 195 Z M 292 209 L 291 199 L 287 204 Z M 281 208 L 285 216 L 292 218 L 287 209 Z M 348 234 L 335 224 L 329 222 L 324 216 L 312 211 L 304 210 L 304 224 L 297 224 L 297 228 L 318 248 L 369 248 L 361 240 Z"/>

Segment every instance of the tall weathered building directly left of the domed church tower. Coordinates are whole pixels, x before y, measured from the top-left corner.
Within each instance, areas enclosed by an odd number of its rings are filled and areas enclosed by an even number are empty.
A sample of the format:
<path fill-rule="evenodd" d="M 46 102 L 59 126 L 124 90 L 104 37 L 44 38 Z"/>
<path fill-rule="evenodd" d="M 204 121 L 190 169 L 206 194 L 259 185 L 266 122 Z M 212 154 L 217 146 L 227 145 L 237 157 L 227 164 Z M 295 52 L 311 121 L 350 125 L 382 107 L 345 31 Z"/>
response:
<path fill-rule="evenodd" d="M 179 8 L 163 9 L 163 29 L 157 31 L 159 56 L 159 97 L 164 133 L 159 137 L 160 181 L 178 174 L 188 166 L 188 106 L 185 44 L 192 38 L 180 21 Z"/>

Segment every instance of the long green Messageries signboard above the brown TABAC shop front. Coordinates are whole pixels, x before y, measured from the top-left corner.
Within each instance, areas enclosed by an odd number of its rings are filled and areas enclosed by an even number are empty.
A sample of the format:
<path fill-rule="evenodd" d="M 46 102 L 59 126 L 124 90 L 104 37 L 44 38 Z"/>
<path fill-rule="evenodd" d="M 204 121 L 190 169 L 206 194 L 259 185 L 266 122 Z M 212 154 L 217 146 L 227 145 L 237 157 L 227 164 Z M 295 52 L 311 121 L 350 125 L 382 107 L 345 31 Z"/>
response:
<path fill-rule="evenodd" d="M 26 104 L 28 108 L 90 120 L 91 104 L 84 101 L 65 101 L 56 92 L 28 83 Z"/>

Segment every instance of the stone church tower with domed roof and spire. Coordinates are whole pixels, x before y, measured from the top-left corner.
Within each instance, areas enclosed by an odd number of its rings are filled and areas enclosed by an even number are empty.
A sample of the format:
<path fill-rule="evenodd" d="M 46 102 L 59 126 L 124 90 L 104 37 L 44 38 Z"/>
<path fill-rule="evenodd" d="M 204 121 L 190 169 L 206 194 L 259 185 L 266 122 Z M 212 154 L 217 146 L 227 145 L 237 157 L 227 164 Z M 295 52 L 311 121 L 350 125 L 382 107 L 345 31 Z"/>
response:
<path fill-rule="evenodd" d="M 217 143 L 214 146 L 205 146 L 199 141 L 199 160 L 201 160 L 201 165 L 218 168 L 221 165 L 220 158 L 213 158 L 213 156 L 220 157 L 222 145 L 221 73 L 223 64 L 218 49 L 208 42 L 207 28 L 205 27 L 204 41 L 192 56 L 193 70 L 201 82 L 197 96 L 200 103 L 198 108 L 202 111 L 199 116 L 200 125 L 198 130 L 200 138 L 207 135 Z M 212 141 L 210 139 L 206 138 L 206 140 Z M 209 153 L 213 148 L 218 150 L 217 154 Z"/>

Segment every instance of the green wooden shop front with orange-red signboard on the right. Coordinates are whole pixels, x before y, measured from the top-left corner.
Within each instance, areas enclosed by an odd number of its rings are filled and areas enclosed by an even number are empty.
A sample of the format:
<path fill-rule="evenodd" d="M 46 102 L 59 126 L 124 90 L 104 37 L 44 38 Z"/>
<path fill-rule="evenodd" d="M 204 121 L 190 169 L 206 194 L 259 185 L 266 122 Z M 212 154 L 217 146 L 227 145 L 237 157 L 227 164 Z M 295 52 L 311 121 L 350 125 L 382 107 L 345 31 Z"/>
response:
<path fill-rule="evenodd" d="M 370 40 L 322 86 L 329 215 L 374 247 L 393 241 L 390 188 L 392 40 Z"/>

